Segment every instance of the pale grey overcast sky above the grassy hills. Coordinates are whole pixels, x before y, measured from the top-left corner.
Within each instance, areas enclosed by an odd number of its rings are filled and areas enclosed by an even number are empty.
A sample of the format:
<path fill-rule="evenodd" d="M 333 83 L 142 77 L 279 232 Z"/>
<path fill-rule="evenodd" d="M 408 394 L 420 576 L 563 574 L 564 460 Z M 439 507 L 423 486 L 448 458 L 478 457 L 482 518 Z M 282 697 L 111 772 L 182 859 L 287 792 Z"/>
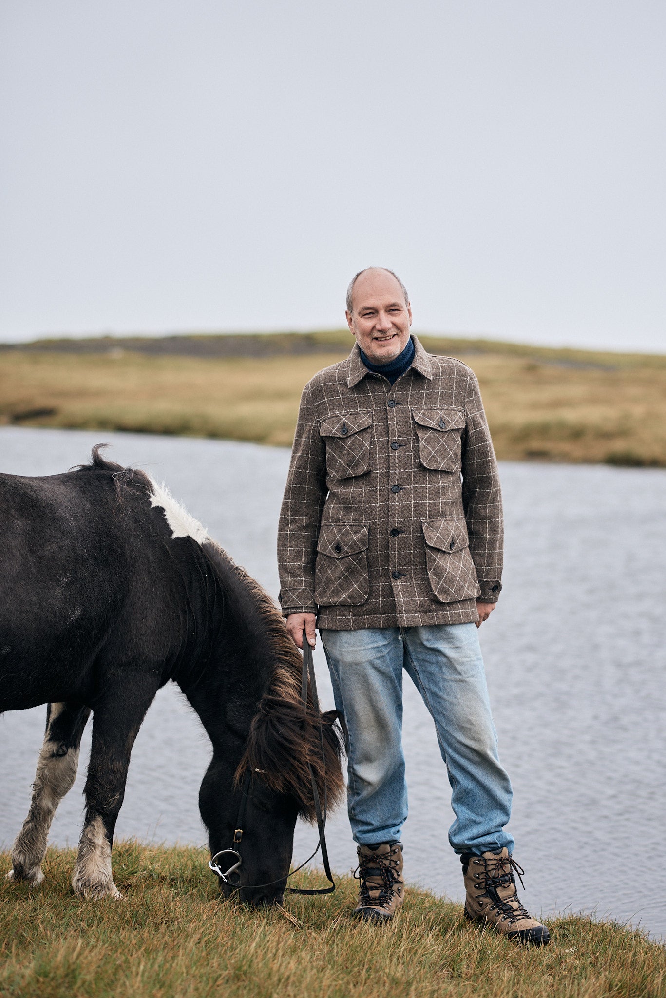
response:
<path fill-rule="evenodd" d="M 666 352 L 663 0 L 3 0 L 0 340 L 414 329 Z"/>

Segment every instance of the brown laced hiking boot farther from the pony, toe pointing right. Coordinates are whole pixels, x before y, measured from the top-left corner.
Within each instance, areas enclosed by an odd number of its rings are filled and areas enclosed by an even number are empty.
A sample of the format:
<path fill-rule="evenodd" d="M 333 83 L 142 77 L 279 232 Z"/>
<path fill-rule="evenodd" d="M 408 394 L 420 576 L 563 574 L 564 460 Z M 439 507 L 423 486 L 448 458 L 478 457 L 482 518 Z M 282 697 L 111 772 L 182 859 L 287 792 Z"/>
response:
<path fill-rule="evenodd" d="M 532 918 L 518 900 L 513 870 L 521 884 L 525 871 L 509 856 L 508 849 L 480 856 L 467 852 L 460 859 L 466 891 L 465 918 L 490 925 L 516 942 L 545 946 L 550 941 L 545 925 Z"/>

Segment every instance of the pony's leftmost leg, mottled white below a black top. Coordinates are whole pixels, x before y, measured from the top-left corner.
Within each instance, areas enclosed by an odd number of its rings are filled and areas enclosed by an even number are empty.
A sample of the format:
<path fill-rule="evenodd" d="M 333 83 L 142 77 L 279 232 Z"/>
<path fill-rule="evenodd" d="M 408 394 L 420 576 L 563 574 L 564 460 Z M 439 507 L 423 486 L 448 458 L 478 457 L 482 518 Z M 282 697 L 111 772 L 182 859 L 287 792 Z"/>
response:
<path fill-rule="evenodd" d="M 88 708 L 79 704 L 48 705 L 30 810 L 12 848 L 12 869 L 7 874 L 10 879 L 34 884 L 44 879 L 42 860 L 51 822 L 76 779 L 81 736 L 89 716 Z"/>

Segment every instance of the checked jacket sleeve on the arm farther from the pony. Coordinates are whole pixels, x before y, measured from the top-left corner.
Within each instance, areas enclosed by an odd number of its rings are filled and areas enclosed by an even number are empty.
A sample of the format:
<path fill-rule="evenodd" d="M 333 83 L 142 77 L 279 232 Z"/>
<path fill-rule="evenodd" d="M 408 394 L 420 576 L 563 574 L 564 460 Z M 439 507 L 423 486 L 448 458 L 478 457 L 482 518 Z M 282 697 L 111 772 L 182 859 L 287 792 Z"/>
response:
<path fill-rule="evenodd" d="M 504 522 L 497 461 L 476 377 L 469 371 L 462 440 L 462 503 L 469 552 L 484 603 L 496 603 L 502 588 Z"/>

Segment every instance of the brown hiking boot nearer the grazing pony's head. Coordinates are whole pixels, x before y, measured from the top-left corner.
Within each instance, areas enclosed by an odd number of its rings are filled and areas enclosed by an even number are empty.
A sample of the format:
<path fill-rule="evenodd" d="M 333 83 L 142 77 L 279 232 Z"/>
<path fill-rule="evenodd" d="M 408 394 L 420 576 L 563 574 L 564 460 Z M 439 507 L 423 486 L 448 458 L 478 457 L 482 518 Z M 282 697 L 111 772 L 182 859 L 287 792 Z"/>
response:
<path fill-rule="evenodd" d="M 368 922 L 387 922 L 402 904 L 402 845 L 382 842 L 380 845 L 359 845 L 358 904 L 353 910 L 358 918 Z"/>

